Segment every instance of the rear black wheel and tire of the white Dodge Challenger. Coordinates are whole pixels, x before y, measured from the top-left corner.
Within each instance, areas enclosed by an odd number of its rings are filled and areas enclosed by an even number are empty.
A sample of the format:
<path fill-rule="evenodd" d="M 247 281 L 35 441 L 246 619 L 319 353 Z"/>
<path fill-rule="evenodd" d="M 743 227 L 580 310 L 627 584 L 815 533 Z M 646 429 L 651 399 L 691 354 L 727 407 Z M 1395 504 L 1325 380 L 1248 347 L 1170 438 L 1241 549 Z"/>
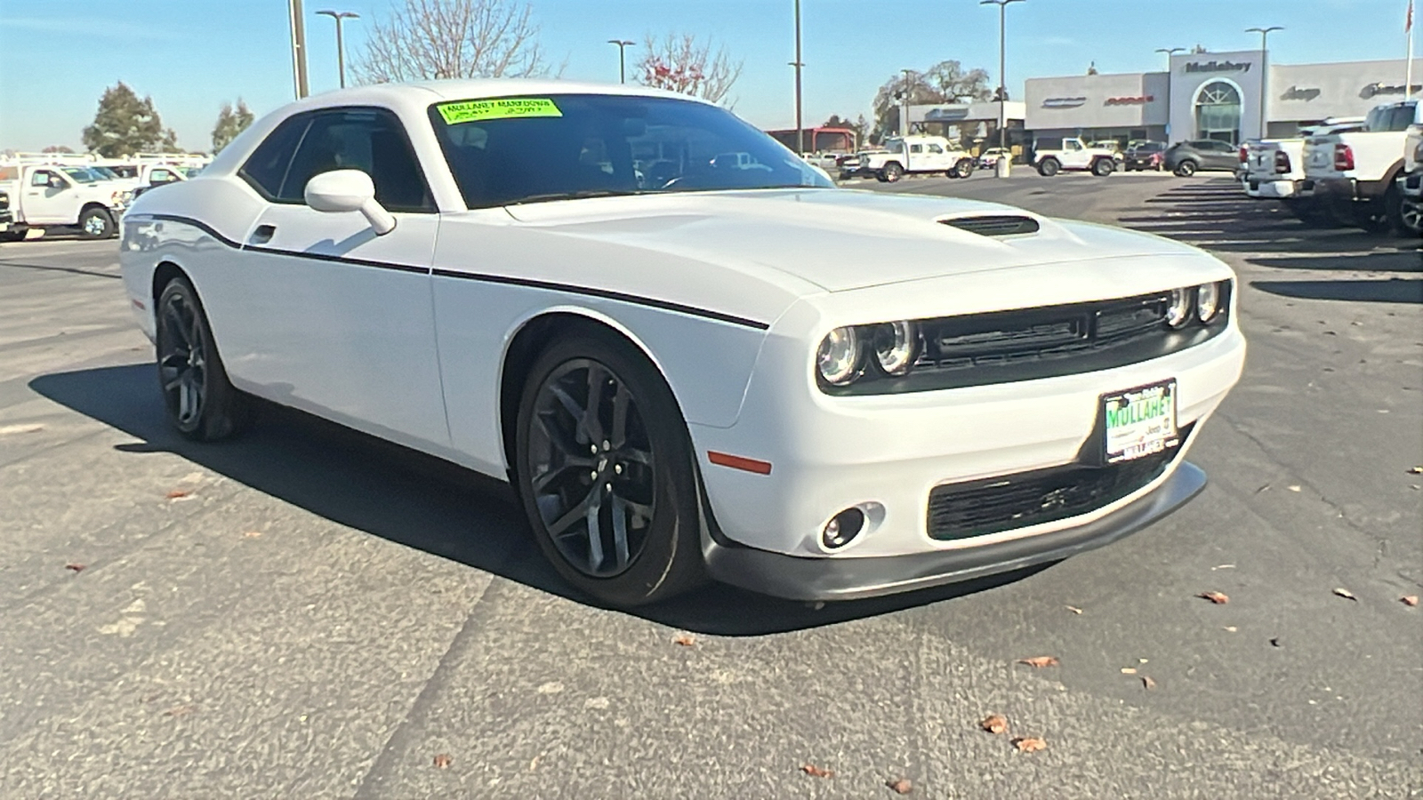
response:
<path fill-rule="evenodd" d="M 168 421 L 196 441 L 239 433 L 250 416 L 249 399 L 228 381 L 202 303 L 186 279 L 175 278 L 164 288 L 155 322 L 158 383 Z"/>

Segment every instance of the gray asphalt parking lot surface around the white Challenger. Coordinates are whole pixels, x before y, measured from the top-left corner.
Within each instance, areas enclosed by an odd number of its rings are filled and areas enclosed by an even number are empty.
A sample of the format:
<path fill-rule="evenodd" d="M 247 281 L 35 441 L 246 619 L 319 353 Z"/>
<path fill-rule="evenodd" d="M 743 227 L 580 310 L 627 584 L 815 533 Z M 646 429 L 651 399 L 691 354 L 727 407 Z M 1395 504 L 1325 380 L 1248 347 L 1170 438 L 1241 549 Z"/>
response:
<path fill-rule="evenodd" d="M 115 243 L 0 245 L 0 797 L 1423 797 L 1419 242 L 1212 177 L 852 185 L 1231 263 L 1205 493 L 1030 574 L 606 611 L 458 470 L 279 410 L 179 440 Z"/>

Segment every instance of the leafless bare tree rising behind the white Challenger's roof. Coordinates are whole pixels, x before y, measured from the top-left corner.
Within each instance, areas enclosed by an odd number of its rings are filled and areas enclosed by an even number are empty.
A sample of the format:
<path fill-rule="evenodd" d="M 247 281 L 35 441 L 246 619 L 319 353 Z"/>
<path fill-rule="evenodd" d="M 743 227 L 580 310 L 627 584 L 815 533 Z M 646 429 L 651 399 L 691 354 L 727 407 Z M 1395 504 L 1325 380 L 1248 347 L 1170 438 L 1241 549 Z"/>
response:
<path fill-rule="evenodd" d="M 521 0 L 398 0 L 371 23 L 351 67 L 369 84 L 562 73 L 546 63 L 538 33 Z"/>

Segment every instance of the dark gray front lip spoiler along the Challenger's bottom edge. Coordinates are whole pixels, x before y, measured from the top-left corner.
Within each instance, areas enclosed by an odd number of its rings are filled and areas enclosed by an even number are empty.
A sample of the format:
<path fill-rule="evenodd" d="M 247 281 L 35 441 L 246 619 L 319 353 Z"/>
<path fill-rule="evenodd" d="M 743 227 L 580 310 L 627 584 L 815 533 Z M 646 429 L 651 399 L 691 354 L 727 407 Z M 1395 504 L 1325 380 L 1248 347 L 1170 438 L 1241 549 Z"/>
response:
<path fill-rule="evenodd" d="M 706 537 L 703 557 L 713 578 L 754 592 L 798 601 L 871 598 L 1012 572 L 1109 545 L 1171 514 L 1202 488 L 1205 473 L 1181 461 L 1155 490 L 1111 514 L 1036 537 L 878 558 L 798 558 Z"/>

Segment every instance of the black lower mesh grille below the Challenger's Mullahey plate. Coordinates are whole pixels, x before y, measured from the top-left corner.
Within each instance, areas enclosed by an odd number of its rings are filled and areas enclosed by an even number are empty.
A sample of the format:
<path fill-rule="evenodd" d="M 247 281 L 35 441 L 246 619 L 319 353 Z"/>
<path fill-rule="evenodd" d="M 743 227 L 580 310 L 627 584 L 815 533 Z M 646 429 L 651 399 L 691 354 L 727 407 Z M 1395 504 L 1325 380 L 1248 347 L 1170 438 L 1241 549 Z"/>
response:
<path fill-rule="evenodd" d="M 1181 430 L 1184 440 L 1190 426 Z M 1154 481 L 1180 453 L 1090 467 L 1070 464 L 929 491 L 929 537 L 966 540 L 1089 514 Z"/>

